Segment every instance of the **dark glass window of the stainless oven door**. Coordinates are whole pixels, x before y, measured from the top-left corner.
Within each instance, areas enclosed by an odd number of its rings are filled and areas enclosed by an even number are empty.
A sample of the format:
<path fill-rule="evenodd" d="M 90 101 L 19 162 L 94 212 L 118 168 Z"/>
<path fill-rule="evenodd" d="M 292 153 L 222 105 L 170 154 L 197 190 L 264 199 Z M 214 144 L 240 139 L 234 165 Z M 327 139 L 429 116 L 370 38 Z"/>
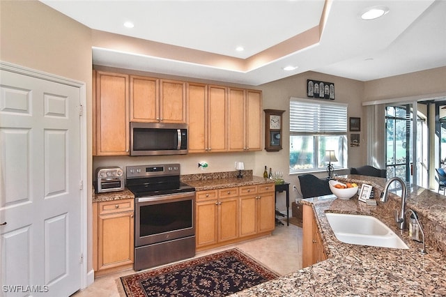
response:
<path fill-rule="evenodd" d="M 192 200 L 142 205 L 139 237 L 192 228 Z"/>

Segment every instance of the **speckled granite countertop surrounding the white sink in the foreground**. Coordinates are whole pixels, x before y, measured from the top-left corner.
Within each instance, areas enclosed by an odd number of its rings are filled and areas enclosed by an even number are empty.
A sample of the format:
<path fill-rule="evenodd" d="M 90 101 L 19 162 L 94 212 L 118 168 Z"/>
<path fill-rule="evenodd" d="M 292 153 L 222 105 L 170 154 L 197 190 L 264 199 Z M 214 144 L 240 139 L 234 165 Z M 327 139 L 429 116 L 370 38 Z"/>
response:
<path fill-rule="evenodd" d="M 378 197 L 385 184 L 385 178 L 370 176 L 337 179 L 373 185 Z M 407 230 L 397 229 L 393 210 L 400 203 L 392 194 L 386 204 L 378 201 L 378 206 L 367 206 L 357 195 L 348 200 L 334 195 L 303 199 L 302 204 L 314 209 L 328 259 L 232 296 L 446 296 L 446 197 L 420 187 L 408 188 L 407 207 L 417 211 L 426 233 L 428 254 L 424 255 L 418 252 L 421 244 L 411 241 Z M 401 236 L 409 249 L 341 243 L 325 212 L 373 215 Z"/>

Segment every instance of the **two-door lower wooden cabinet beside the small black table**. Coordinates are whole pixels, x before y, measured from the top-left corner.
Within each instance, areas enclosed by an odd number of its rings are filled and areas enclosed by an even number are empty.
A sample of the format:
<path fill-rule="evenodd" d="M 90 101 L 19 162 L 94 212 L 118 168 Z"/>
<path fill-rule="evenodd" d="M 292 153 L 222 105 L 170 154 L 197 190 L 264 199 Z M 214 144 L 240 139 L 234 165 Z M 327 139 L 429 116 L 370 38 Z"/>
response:
<path fill-rule="evenodd" d="M 274 185 L 245 185 L 239 199 L 240 237 L 274 230 Z"/>

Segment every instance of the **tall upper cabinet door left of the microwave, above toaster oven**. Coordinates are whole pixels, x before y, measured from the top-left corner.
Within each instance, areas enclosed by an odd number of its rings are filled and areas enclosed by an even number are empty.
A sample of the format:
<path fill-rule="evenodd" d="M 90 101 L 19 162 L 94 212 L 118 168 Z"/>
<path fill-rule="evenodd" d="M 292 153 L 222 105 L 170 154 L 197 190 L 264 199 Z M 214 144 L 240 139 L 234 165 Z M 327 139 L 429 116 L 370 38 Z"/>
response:
<path fill-rule="evenodd" d="M 95 73 L 95 155 L 128 155 L 128 75 Z"/>

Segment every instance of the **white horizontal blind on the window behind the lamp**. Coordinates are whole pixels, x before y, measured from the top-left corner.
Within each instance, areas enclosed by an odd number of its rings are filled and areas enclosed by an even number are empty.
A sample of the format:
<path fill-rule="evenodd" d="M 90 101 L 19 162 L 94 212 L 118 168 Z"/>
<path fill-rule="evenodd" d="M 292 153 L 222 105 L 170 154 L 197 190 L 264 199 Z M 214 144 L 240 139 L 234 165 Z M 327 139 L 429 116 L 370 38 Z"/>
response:
<path fill-rule="evenodd" d="M 347 105 L 291 98 L 290 132 L 345 134 Z"/>

